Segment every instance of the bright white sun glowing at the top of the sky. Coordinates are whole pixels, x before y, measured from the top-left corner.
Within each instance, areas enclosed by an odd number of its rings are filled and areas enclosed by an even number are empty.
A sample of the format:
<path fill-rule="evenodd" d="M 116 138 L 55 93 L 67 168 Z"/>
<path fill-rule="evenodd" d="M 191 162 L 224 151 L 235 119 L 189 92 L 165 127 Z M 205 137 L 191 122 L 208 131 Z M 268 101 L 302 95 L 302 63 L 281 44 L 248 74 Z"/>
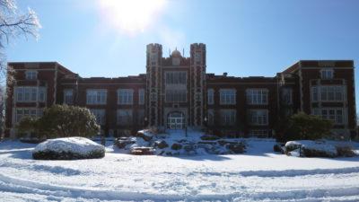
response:
<path fill-rule="evenodd" d="M 102 14 L 120 31 L 144 31 L 163 8 L 165 0 L 100 0 Z"/>

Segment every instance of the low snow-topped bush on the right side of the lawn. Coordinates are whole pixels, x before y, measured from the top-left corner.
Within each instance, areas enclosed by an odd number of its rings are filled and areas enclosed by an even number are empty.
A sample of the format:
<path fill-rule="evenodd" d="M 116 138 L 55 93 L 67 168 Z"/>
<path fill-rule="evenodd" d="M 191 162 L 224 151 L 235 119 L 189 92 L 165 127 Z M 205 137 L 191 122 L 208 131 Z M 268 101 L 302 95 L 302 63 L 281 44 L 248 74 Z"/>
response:
<path fill-rule="evenodd" d="M 285 144 L 285 150 L 294 156 L 337 157 L 337 147 L 325 141 L 289 141 Z"/>

